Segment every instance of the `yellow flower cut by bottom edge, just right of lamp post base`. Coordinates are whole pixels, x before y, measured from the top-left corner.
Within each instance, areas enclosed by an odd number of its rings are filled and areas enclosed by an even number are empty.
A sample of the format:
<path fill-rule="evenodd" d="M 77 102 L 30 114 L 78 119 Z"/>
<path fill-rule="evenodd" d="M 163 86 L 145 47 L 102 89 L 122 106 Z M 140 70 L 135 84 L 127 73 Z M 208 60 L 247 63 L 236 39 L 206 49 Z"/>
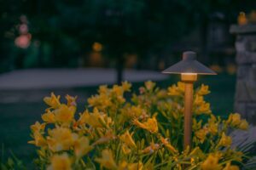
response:
<path fill-rule="evenodd" d="M 201 164 L 202 170 L 220 170 L 222 167 L 218 165 L 219 157 L 217 155 L 210 154 L 207 160 Z"/>

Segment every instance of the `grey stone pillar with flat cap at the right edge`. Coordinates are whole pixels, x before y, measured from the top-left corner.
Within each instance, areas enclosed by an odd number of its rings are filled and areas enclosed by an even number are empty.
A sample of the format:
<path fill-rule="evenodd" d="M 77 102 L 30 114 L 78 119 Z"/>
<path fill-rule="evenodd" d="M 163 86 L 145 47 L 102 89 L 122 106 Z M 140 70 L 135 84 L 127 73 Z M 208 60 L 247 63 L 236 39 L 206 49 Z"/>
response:
<path fill-rule="evenodd" d="M 256 124 L 256 25 L 231 26 L 236 34 L 235 111 Z"/>

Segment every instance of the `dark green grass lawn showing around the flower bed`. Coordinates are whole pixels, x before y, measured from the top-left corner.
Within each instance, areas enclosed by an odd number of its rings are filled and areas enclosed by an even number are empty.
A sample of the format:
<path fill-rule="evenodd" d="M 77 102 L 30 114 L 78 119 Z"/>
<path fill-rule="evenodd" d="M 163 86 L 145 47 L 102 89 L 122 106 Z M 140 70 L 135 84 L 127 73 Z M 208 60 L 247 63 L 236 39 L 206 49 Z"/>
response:
<path fill-rule="evenodd" d="M 172 76 L 164 82 L 158 82 L 162 88 L 179 80 L 179 77 Z M 207 101 L 212 105 L 212 112 L 215 115 L 226 117 L 233 111 L 233 99 L 236 86 L 236 76 L 221 74 L 218 76 L 201 76 L 195 86 L 204 83 L 210 86 L 211 94 L 208 94 Z M 143 85 L 135 83 L 133 88 Z M 65 93 L 69 91 L 65 91 Z M 72 93 L 80 98 L 86 98 L 90 94 L 96 93 L 96 87 L 75 88 Z M 56 93 L 57 94 L 57 93 Z M 80 95 L 79 95 L 80 94 Z M 79 100 L 79 111 L 83 110 L 85 100 Z M 30 140 L 30 125 L 40 120 L 41 114 L 44 113 L 45 105 L 42 102 L 33 103 L 12 103 L 0 104 L 0 144 L 3 159 L 9 156 L 9 150 L 12 150 L 16 156 L 26 162 L 32 162 L 35 156 L 35 147 L 27 144 Z"/>

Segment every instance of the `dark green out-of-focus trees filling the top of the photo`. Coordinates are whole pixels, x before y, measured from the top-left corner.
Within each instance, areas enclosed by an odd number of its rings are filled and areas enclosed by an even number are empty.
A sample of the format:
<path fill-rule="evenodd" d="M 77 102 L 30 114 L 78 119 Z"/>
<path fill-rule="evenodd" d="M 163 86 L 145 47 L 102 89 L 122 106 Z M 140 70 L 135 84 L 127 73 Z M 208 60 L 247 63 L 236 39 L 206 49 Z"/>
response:
<path fill-rule="evenodd" d="M 77 67 L 93 42 L 101 42 L 105 59 L 115 62 L 118 82 L 125 54 L 137 54 L 139 60 L 161 54 L 196 27 L 201 27 L 204 50 L 210 14 L 221 12 L 233 23 L 241 10 L 255 7 L 253 0 L 26 0 L 0 4 L 1 71 L 19 65 Z M 14 44 L 22 14 L 32 34 L 30 47 L 24 49 Z"/>

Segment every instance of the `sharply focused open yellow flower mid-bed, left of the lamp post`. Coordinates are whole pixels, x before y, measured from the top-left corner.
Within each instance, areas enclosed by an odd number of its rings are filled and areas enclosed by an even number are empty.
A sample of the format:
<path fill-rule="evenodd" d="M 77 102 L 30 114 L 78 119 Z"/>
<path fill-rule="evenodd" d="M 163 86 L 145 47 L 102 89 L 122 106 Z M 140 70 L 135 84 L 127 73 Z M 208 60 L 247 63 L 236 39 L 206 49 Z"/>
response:
<path fill-rule="evenodd" d="M 133 121 L 133 123 L 137 126 L 137 127 L 141 127 L 144 128 L 146 130 L 148 130 L 150 133 L 157 133 L 158 132 L 158 125 L 157 125 L 157 121 L 155 119 L 155 117 L 153 118 L 148 118 L 147 122 L 138 122 L 137 119 L 135 119 Z"/>

